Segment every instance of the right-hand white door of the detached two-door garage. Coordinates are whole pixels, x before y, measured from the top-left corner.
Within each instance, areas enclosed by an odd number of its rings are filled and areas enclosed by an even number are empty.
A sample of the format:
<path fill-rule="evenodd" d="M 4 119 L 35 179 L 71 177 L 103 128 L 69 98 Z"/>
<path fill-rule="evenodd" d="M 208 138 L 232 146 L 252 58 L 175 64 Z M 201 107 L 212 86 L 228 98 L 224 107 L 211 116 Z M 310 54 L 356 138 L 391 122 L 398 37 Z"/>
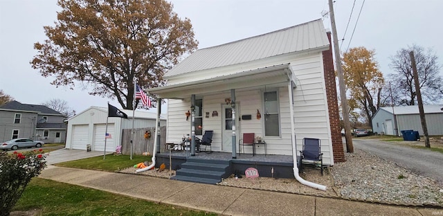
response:
<path fill-rule="evenodd" d="M 94 125 L 94 138 L 93 138 L 93 150 L 94 151 L 104 151 L 105 150 L 105 134 L 106 134 L 106 124 Z M 111 134 L 111 138 L 107 138 L 106 141 L 106 151 L 115 152 L 116 146 L 114 145 L 115 132 L 114 124 L 108 124 L 108 134 Z"/>

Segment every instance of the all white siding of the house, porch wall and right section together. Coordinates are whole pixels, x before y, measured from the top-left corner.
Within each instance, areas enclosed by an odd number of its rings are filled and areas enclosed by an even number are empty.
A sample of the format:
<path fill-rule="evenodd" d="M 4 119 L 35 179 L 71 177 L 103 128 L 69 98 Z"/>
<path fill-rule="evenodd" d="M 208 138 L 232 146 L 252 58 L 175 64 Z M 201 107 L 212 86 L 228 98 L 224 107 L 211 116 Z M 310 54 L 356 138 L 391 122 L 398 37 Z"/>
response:
<path fill-rule="evenodd" d="M 275 59 L 275 64 L 287 61 L 288 56 Z M 287 62 L 286 62 L 287 63 Z M 293 90 L 294 120 L 296 126 L 297 150 L 302 149 L 302 138 L 320 138 L 324 154 L 323 162 L 333 164 L 332 141 L 330 139 L 329 116 L 327 111 L 327 99 L 325 94 L 325 81 L 323 77 L 323 56 L 321 53 L 292 56 L 290 61 L 293 72 L 296 75 L 297 88 Z M 239 66 L 241 67 L 241 66 Z M 266 91 L 270 90 L 267 87 Z M 268 154 L 292 155 L 291 145 L 291 121 L 289 114 L 289 92 L 287 87 L 279 87 L 280 106 L 280 137 L 265 137 L 264 105 L 262 95 L 265 87 L 259 89 L 236 89 L 235 96 L 238 108 L 236 118 L 242 115 L 251 115 L 251 120 L 240 120 L 237 139 L 242 133 L 253 132 L 255 136 L 262 136 L 267 145 Z M 213 150 L 221 150 L 221 107 L 224 106 L 224 98 L 230 98 L 230 92 L 203 96 L 203 116 L 210 113 L 209 118 L 203 118 L 203 130 L 214 130 Z M 262 118 L 256 118 L 257 109 Z M 168 100 L 168 126 L 167 142 L 178 143 L 183 135 L 190 134 L 190 120 L 186 121 L 185 113 L 190 110 L 190 98 L 186 100 Z M 213 117 L 213 111 L 218 116 Z M 237 145 L 238 147 L 238 145 Z M 264 148 L 257 148 L 258 154 L 264 154 Z"/>

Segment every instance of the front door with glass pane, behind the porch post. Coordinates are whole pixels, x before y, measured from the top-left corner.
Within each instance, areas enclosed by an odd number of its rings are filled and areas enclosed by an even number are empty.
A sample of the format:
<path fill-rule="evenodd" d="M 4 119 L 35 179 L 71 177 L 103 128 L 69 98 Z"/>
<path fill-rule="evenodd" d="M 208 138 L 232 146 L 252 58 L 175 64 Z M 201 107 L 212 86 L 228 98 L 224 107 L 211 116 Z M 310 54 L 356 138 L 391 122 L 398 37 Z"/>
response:
<path fill-rule="evenodd" d="M 221 152 L 232 152 L 233 147 L 233 120 L 235 120 L 235 136 L 237 137 L 236 144 L 238 143 L 239 139 L 239 122 L 238 122 L 238 116 L 239 116 L 239 106 L 236 104 L 235 109 L 235 118 L 233 118 L 233 108 L 230 107 L 230 105 L 223 105 L 221 107 L 221 112 L 223 115 L 223 122 L 222 124 L 222 137 L 223 141 L 221 143 Z"/>

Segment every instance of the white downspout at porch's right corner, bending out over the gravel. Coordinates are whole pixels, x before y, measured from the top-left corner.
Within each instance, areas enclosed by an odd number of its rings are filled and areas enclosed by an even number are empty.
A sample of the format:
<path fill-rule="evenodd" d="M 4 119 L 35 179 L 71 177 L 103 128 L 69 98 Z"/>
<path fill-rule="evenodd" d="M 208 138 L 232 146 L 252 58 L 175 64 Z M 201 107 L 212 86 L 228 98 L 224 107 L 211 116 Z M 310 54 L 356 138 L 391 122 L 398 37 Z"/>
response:
<path fill-rule="evenodd" d="M 311 181 L 306 181 L 305 179 L 302 179 L 300 175 L 298 175 L 298 165 L 297 165 L 297 145 L 296 145 L 296 131 L 295 131 L 295 123 L 294 116 L 293 116 L 293 88 L 292 88 L 292 71 L 287 71 L 287 75 L 289 77 L 288 82 L 288 91 L 289 91 L 289 113 L 291 115 L 291 143 L 292 143 L 292 156 L 293 156 L 293 176 L 296 177 L 297 181 L 304 184 L 305 186 L 309 186 L 311 188 L 316 188 L 318 190 L 326 190 L 326 186 L 319 185 L 318 183 L 314 183 Z"/>

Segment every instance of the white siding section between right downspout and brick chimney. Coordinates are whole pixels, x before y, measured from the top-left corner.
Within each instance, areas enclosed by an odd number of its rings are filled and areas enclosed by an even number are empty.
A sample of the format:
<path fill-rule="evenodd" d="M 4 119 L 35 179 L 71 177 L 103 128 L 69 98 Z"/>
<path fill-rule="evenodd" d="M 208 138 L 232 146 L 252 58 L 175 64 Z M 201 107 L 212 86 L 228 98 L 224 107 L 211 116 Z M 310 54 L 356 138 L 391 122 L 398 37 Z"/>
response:
<path fill-rule="evenodd" d="M 298 79 L 293 93 L 297 151 L 302 150 L 303 138 L 320 138 L 323 163 L 333 164 L 323 56 L 309 55 L 291 65 Z"/>

